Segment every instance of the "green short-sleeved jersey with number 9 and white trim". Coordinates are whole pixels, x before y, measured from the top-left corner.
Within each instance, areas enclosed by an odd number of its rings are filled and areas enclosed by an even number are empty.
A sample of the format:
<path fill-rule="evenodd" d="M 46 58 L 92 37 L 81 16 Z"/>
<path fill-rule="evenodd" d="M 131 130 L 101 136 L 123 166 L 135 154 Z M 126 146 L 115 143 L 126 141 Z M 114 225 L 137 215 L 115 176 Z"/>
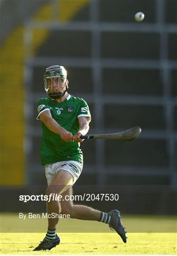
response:
<path fill-rule="evenodd" d="M 46 110 L 51 111 L 51 116 L 67 131 L 75 135 L 79 129 L 79 117 L 90 117 L 87 103 L 80 98 L 67 96 L 63 102 L 57 102 L 51 98 L 42 98 L 37 101 L 38 116 Z M 78 161 L 83 163 L 83 153 L 80 143 L 64 142 L 61 137 L 49 130 L 42 122 L 41 163 L 52 164 L 61 161 Z"/>

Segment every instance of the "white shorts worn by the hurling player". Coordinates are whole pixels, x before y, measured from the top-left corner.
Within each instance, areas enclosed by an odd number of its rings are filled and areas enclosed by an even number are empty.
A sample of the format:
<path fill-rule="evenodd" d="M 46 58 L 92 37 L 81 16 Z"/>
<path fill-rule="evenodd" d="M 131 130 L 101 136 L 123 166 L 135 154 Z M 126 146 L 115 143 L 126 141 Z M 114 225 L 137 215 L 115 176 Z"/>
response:
<path fill-rule="evenodd" d="M 73 184 L 80 176 L 83 169 L 83 164 L 77 161 L 62 161 L 54 164 L 45 165 L 45 176 L 47 184 L 50 185 L 51 181 L 60 170 L 67 171 L 73 176 Z"/>

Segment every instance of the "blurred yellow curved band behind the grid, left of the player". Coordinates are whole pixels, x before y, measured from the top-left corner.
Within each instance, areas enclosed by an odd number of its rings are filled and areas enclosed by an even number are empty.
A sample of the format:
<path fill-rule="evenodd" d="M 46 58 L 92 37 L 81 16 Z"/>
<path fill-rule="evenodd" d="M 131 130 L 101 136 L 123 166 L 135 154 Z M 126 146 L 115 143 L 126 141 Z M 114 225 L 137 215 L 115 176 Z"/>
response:
<path fill-rule="evenodd" d="M 59 19 L 67 22 L 89 0 L 61 0 Z M 33 20 L 50 20 L 51 3 L 47 3 L 34 15 Z M 25 86 L 24 71 L 24 27 L 17 27 L 5 40 L 0 49 L 0 184 L 25 184 Z M 33 31 L 35 55 L 42 42 L 48 37 L 46 29 Z"/>

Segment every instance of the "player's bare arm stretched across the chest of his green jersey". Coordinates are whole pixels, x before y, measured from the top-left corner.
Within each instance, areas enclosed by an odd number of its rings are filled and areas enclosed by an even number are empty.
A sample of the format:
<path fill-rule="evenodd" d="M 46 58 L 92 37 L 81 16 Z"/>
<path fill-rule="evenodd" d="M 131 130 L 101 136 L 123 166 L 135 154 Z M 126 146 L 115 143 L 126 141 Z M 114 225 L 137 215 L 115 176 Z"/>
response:
<path fill-rule="evenodd" d="M 50 110 L 46 110 L 40 115 L 41 121 L 44 125 L 51 130 L 52 132 L 59 134 L 64 141 L 72 141 L 73 135 L 71 132 L 68 132 L 66 129 L 61 127 L 55 119 L 52 118 Z"/>

